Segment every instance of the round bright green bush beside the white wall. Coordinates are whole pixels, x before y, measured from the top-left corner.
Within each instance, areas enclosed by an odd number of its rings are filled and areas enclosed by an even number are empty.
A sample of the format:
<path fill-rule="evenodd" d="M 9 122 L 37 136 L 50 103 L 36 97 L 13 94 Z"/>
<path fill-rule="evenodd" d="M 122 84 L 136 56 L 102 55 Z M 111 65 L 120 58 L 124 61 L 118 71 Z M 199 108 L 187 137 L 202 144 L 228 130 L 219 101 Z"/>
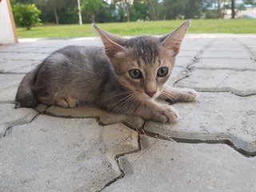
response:
<path fill-rule="evenodd" d="M 41 10 L 38 10 L 34 4 L 18 3 L 13 6 L 13 11 L 16 25 L 26 27 L 27 30 L 41 23 L 39 18 Z"/>

